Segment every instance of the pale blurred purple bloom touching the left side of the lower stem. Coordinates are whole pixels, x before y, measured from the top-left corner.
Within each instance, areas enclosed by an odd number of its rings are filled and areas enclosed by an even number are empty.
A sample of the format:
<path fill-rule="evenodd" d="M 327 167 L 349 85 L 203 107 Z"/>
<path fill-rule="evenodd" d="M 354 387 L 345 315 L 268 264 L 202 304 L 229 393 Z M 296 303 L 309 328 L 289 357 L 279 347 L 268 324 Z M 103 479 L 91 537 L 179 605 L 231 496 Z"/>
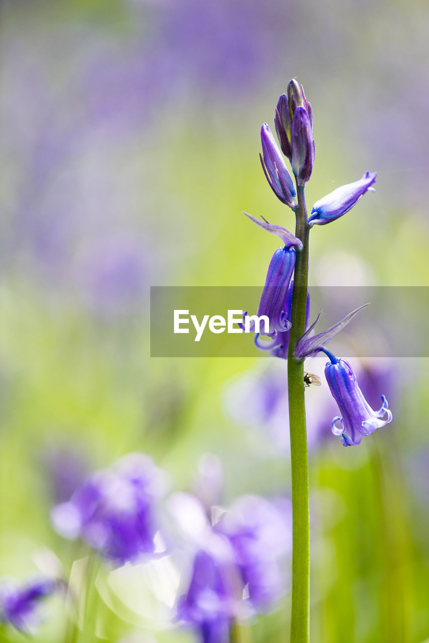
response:
<path fill-rule="evenodd" d="M 242 496 L 214 525 L 233 547 L 245 595 L 255 611 L 272 608 L 286 590 L 284 559 L 291 553 L 292 512 L 289 504 L 281 509 L 260 496 Z"/>

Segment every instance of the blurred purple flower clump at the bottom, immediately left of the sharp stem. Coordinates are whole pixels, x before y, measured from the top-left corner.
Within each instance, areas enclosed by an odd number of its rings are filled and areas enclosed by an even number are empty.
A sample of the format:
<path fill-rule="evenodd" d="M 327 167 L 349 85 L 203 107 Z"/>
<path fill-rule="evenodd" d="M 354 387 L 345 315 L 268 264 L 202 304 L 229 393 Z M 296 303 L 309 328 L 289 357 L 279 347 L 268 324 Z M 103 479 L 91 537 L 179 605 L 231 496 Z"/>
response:
<path fill-rule="evenodd" d="M 184 510 L 190 507 L 183 494 L 173 503 L 183 520 L 181 504 Z M 204 515 L 202 507 L 200 513 Z M 224 643 L 233 620 L 272 608 L 285 592 L 291 506 L 288 501 L 242 496 L 213 528 L 195 531 L 191 579 L 178 599 L 175 620 L 196 628 L 203 642 Z"/>

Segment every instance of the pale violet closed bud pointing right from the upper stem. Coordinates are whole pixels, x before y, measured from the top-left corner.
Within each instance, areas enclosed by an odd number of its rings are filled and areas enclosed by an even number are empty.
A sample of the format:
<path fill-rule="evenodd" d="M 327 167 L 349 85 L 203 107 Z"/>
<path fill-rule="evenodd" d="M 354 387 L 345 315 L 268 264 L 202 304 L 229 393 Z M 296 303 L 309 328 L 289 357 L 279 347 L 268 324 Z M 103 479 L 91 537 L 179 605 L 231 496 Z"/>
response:
<path fill-rule="evenodd" d="M 309 217 L 310 226 L 314 226 L 314 224 L 324 226 L 330 221 L 335 221 L 335 219 L 342 217 L 343 214 L 356 205 L 365 192 L 376 191 L 375 188 L 371 187 L 376 182 L 376 176 L 377 172 L 365 172 L 359 181 L 342 185 L 327 194 L 323 199 L 316 201 Z"/>

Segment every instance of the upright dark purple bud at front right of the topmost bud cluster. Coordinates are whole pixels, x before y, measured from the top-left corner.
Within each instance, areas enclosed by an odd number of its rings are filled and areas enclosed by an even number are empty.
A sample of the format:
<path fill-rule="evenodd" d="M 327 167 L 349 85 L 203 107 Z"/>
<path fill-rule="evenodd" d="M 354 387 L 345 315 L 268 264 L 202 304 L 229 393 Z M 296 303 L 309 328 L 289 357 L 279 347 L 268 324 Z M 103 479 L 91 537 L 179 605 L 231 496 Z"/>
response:
<path fill-rule="evenodd" d="M 292 170 L 298 185 L 305 185 L 314 162 L 314 142 L 310 116 L 305 107 L 297 107 L 292 122 Z"/>

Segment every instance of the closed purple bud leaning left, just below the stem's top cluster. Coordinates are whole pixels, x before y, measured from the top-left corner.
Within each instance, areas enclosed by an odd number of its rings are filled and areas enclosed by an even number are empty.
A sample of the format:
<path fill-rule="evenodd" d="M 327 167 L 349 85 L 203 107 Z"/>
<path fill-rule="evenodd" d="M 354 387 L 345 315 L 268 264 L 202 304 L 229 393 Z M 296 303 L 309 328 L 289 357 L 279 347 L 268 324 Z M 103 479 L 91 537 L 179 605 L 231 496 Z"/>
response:
<path fill-rule="evenodd" d="M 261 141 L 263 158 L 261 154 L 259 156 L 267 181 L 281 203 L 293 209 L 296 207 L 296 189 L 267 123 L 263 123 L 261 128 Z"/>

